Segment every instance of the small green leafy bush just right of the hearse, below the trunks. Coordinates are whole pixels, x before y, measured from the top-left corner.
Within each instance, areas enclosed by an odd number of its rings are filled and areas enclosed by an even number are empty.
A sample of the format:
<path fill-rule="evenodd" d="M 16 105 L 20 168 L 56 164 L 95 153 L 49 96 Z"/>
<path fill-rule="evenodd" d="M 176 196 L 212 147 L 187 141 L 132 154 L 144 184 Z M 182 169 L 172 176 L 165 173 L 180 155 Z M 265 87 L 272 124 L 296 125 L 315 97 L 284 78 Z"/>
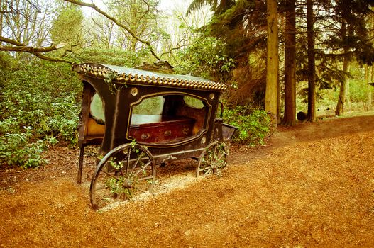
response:
<path fill-rule="evenodd" d="M 270 130 L 268 114 L 263 110 L 254 110 L 248 114 L 246 108 L 237 106 L 224 111 L 224 120 L 238 128 L 233 142 L 245 145 L 263 145 Z"/>

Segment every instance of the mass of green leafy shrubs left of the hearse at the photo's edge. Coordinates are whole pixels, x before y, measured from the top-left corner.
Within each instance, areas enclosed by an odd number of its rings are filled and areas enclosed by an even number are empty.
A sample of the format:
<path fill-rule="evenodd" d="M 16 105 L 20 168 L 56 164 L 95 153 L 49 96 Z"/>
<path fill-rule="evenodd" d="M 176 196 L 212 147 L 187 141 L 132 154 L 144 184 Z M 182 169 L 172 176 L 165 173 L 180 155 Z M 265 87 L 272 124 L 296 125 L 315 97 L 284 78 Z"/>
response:
<path fill-rule="evenodd" d="M 82 86 L 70 65 L 8 59 L 0 95 L 0 163 L 37 167 L 48 146 L 77 142 Z"/>

